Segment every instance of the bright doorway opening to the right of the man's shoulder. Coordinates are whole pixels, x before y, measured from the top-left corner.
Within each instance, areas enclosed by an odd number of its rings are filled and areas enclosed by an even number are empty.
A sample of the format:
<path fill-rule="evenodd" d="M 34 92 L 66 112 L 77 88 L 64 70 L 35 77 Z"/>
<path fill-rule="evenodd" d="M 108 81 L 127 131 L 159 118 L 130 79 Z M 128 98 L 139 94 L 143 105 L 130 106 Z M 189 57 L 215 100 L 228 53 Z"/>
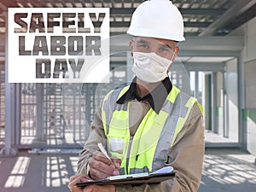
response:
<path fill-rule="evenodd" d="M 237 59 L 203 65 L 189 67 L 189 79 L 192 95 L 204 108 L 206 147 L 238 147 Z"/>

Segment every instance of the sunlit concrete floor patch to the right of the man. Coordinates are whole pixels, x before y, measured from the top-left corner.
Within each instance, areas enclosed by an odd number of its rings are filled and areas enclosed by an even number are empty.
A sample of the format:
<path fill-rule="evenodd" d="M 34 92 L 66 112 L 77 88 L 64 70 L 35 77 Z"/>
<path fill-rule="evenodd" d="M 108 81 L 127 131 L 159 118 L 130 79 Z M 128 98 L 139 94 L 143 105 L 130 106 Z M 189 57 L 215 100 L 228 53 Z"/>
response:
<path fill-rule="evenodd" d="M 255 160 L 238 150 L 207 150 L 198 192 L 255 192 Z"/>

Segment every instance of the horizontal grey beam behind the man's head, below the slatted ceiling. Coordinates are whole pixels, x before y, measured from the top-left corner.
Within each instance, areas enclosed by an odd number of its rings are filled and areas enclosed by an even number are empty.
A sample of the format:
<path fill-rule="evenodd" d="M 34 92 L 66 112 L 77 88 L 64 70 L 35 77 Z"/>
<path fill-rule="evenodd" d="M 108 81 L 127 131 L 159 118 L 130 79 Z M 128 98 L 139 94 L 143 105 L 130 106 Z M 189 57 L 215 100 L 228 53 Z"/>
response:
<path fill-rule="evenodd" d="M 110 37 L 111 54 L 130 51 L 130 35 Z M 244 48 L 242 37 L 187 37 L 179 43 L 178 56 L 237 56 Z"/>

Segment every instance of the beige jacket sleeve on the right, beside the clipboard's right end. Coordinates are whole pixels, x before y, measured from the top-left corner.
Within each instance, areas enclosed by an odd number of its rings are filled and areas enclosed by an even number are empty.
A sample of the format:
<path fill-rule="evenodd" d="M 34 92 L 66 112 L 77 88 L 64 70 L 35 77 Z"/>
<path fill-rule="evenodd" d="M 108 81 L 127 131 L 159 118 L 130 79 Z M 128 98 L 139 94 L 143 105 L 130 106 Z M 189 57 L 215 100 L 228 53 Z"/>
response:
<path fill-rule="evenodd" d="M 169 152 L 166 166 L 173 166 L 177 172 L 176 176 L 157 184 L 143 184 L 137 187 L 117 185 L 116 192 L 196 192 L 201 182 L 204 138 L 202 114 L 195 104 Z"/>

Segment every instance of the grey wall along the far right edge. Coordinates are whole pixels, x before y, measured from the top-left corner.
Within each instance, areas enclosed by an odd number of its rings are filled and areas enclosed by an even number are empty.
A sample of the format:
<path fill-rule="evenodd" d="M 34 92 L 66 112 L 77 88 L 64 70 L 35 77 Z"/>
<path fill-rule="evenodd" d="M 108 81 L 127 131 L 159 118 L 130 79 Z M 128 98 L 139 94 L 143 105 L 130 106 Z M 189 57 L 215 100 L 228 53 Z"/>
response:
<path fill-rule="evenodd" d="M 245 132 L 248 152 L 256 155 L 256 105 L 254 105 L 256 81 L 252 83 L 252 77 L 255 77 L 256 73 L 256 17 L 230 35 L 243 35 L 245 37 L 245 47 L 242 51 L 245 89 L 240 92 L 240 94 L 245 94 L 242 129 Z M 251 94 L 251 91 L 248 90 L 253 90 L 254 93 Z"/>

